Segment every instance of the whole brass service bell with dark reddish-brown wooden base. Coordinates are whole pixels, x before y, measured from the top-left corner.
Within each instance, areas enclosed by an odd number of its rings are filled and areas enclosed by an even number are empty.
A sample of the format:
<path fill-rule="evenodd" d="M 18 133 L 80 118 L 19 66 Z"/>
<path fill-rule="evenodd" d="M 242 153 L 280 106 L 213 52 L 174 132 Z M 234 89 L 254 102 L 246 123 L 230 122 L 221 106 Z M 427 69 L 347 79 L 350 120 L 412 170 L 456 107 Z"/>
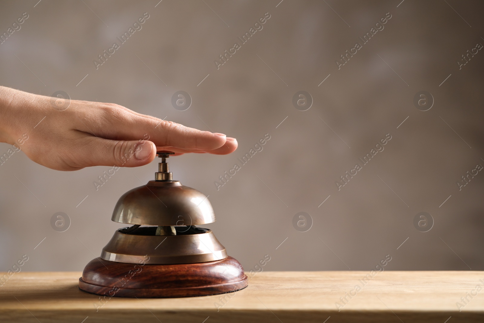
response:
<path fill-rule="evenodd" d="M 227 256 L 211 230 L 212 204 L 194 188 L 173 180 L 166 158 L 155 179 L 126 193 L 112 221 L 117 230 L 79 278 L 79 288 L 109 297 L 186 297 L 234 292 L 247 287 L 239 261 Z"/>

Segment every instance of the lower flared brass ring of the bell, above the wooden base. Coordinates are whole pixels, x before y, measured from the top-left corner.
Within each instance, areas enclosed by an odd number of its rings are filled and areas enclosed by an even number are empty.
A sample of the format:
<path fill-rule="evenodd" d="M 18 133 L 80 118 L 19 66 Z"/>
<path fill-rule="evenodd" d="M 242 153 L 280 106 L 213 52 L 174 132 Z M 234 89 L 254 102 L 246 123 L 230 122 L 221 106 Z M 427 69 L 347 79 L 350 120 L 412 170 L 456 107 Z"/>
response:
<path fill-rule="evenodd" d="M 114 232 L 103 248 L 101 258 L 107 261 L 172 264 L 222 260 L 227 257 L 225 247 L 212 231 L 192 233 L 186 227 L 177 228 L 177 235 L 156 235 L 157 227 L 140 227 L 130 233 Z M 202 229 L 202 228 L 197 228 Z M 195 229 L 192 229 L 195 230 Z"/>

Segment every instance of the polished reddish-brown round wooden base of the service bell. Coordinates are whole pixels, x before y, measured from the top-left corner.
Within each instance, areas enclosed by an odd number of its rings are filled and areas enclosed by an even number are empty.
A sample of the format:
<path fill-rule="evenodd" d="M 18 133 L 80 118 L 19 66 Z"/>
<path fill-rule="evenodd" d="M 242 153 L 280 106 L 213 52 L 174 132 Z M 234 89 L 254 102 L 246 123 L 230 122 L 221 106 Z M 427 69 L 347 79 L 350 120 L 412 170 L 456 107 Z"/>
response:
<path fill-rule="evenodd" d="M 223 294 L 247 287 L 242 265 L 232 257 L 183 264 L 139 264 L 91 260 L 79 289 L 109 297 L 189 297 Z"/>

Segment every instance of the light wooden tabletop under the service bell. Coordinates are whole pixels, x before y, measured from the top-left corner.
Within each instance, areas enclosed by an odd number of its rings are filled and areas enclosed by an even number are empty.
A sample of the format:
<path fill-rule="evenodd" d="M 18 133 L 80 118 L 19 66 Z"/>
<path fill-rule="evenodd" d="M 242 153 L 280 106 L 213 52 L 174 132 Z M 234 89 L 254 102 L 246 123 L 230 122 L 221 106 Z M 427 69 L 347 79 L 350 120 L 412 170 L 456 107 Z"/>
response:
<path fill-rule="evenodd" d="M 484 272 L 369 274 L 262 272 L 233 294 L 102 301 L 80 272 L 20 272 L 0 287 L 0 322 L 484 322 Z"/>

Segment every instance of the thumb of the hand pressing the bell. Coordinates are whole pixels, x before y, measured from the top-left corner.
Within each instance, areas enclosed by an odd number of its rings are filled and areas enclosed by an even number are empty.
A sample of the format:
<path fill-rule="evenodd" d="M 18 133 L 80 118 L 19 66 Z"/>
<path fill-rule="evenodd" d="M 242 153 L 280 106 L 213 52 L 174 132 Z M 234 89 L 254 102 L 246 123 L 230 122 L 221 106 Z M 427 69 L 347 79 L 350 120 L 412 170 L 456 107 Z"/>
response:
<path fill-rule="evenodd" d="M 86 166 L 137 167 L 149 164 L 156 155 L 156 146 L 147 140 L 109 140 L 88 137 L 82 156 Z"/>

